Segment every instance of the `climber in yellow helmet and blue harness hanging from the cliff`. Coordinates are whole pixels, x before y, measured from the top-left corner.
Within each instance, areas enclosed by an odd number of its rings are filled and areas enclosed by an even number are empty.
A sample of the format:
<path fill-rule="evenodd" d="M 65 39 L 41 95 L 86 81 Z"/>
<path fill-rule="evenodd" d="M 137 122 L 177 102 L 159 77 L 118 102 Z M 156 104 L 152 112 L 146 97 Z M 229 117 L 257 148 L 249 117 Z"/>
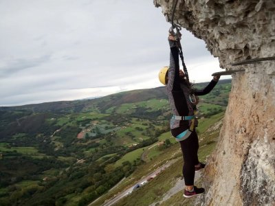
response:
<path fill-rule="evenodd" d="M 168 42 L 170 45 L 170 66 L 159 71 L 159 81 L 166 85 L 170 107 L 173 117 L 170 120 L 170 130 L 172 135 L 179 141 L 181 152 L 184 157 L 183 175 L 186 188 L 184 197 L 190 198 L 203 194 L 204 189 L 194 186 L 195 171 L 205 167 L 200 163 L 197 152 L 199 149 L 199 139 L 195 127 L 196 105 L 199 102 L 198 95 L 209 93 L 219 81 L 219 76 L 214 76 L 213 80 L 204 89 L 195 89 L 189 82 L 188 76 L 179 69 L 179 36 L 170 33 Z M 183 60 L 183 58 L 181 58 Z M 183 62 L 184 64 L 184 62 Z M 185 67 L 185 65 L 184 65 Z"/>

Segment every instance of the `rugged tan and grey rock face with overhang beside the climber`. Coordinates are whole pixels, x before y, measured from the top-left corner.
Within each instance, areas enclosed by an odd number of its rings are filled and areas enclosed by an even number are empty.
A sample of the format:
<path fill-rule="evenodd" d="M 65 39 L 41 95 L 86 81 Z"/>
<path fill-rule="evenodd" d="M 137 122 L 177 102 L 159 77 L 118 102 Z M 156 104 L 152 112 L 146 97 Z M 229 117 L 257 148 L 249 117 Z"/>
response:
<path fill-rule="evenodd" d="M 154 0 L 170 21 L 172 0 Z M 275 205 L 275 61 L 232 62 L 275 56 L 274 0 L 179 0 L 175 23 L 206 42 L 232 75 L 232 90 L 198 205 Z"/>

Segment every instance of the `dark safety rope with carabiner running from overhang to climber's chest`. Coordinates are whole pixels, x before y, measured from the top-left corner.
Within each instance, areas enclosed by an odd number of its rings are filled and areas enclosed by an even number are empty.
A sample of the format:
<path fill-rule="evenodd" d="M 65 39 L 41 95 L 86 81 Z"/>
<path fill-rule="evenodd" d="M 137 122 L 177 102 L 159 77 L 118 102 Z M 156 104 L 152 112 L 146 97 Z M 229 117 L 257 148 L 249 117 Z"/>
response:
<path fill-rule="evenodd" d="M 178 0 L 174 1 L 173 10 L 172 10 L 172 18 L 171 18 L 172 27 L 170 27 L 169 33 L 172 34 L 173 36 L 175 36 L 175 38 L 177 40 L 177 48 L 179 49 L 179 57 L 181 58 L 182 67 L 184 67 L 184 75 L 186 77 L 186 81 L 187 81 L 188 85 L 190 86 L 188 71 L 187 71 L 186 65 L 184 63 L 184 54 L 182 52 L 182 47 L 181 47 L 181 43 L 180 43 L 181 33 L 179 31 L 181 30 L 181 27 L 179 25 L 174 24 L 174 16 L 175 16 L 175 10 L 177 7 L 177 1 Z M 176 33 L 174 32 L 174 29 L 176 29 L 176 31 L 177 31 Z"/>

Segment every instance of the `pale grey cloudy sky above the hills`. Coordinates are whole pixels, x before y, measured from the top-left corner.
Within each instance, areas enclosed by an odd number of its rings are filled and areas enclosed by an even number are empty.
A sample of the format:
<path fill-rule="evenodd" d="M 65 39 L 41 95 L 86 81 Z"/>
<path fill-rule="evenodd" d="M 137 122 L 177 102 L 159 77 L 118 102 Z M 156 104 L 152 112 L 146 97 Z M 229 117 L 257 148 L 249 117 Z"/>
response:
<path fill-rule="evenodd" d="M 153 0 L 1 0 L 0 106 L 161 87 L 169 28 Z M 190 81 L 210 81 L 218 59 L 181 31 Z"/>

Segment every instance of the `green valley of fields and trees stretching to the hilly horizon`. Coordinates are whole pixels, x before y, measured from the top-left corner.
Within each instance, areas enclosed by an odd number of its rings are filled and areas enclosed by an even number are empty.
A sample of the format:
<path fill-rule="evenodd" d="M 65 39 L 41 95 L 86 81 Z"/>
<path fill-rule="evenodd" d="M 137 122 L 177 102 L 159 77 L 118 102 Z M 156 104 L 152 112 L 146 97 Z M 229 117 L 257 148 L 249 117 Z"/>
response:
<path fill-rule="evenodd" d="M 230 80 L 221 80 L 201 98 L 201 159 L 214 148 L 218 130 L 210 135 L 207 129 L 223 117 L 230 88 Z M 170 117 L 164 87 L 0 107 L 1 205 L 87 205 L 103 195 L 102 203 L 157 168 L 156 162 L 181 156 L 167 155 L 179 149 L 170 136 Z"/>

